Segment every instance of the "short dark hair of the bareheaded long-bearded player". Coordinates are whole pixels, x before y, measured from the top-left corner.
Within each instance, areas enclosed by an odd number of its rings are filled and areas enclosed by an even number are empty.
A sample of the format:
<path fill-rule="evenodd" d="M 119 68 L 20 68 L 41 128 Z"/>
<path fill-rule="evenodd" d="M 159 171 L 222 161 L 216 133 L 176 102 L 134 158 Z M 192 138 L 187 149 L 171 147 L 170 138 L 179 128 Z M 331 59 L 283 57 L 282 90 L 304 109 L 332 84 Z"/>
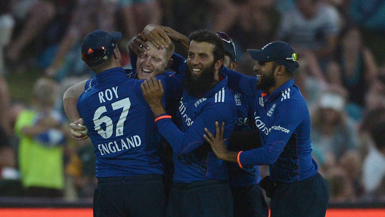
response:
<path fill-rule="evenodd" d="M 214 63 L 216 63 L 218 59 L 224 58 L 224 54 L 226 52 L 226 49 L 224 48 L 224 42 L 216 33 L 207 30 L 198 30 L 190 34 L 189 40 L 190 42 L 196 41 L 214 44 Z"/>

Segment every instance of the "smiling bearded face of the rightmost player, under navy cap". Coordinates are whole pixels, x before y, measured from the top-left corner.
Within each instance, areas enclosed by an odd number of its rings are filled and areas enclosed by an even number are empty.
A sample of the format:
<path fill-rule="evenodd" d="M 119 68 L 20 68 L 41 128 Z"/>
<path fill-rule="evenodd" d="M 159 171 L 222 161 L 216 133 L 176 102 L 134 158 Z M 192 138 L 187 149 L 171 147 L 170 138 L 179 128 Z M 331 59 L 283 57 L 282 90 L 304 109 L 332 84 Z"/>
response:
<path fill-rule="evenodd" d="M 274 72 L 277 64 L 274 61 L 263 62 L 258 61 L 258 63 L 254 66 L 253 70 L 258 77 L 257 88 L 261 90 L 267 90 L 269 87 L 275 85 L 276 79 L 274 76 Z"/>

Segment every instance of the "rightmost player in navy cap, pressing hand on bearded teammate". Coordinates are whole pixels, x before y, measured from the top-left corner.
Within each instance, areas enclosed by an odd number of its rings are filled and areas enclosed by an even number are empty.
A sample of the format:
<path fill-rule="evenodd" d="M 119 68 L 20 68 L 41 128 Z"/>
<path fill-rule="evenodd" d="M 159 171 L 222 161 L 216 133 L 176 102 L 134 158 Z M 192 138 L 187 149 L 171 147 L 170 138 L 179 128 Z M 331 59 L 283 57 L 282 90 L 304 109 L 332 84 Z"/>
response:
<path fill-rule="evenodd" d="M 294 84 L 298 56 L 286 42 L 274 41 L 260 50 L 248 50 L 258 61 L 257 77 L 224 69 L 229 87 L 255 97 L 254 122 L 262 147 L 229 151 L 216 123 L 216 136 L 206 129 L 206 141 L 219 159 L 240 168 L 269 165 L 270 176 L 260 185 L 271 197 L 271 217 L 325 216 L 328 188 L 311 157 L 310 115 L 305 99 Z M 223 124 L 222 124 L 223 125 Z"/>

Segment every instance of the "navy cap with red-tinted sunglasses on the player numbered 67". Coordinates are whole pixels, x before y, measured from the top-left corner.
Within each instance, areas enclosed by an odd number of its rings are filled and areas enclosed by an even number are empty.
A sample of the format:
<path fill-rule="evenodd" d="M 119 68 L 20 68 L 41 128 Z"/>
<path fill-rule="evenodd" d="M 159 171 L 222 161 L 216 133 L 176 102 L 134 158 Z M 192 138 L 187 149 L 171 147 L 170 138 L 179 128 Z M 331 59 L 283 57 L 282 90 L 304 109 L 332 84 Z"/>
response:
<path fill-rule="evenodd" d="M 116 46 L 116 42 L 121 39 L 120 32 L 106 32 L 95 30 L 84 37 L 81 51 L 82 59 L 88 66 L 96 66 L 106 61 Z"/>

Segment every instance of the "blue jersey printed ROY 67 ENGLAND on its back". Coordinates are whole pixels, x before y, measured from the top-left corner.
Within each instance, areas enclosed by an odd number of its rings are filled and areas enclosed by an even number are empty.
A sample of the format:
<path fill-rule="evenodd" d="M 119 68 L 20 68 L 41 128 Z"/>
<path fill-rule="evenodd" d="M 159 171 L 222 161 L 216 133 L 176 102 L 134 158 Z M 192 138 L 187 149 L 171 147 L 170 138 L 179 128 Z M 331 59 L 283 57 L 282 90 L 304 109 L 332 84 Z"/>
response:
<path fill-rule="evenodd" d="M 178 82 L 173 76 L 157 78 L 165 95 L 173 92 L 170 84 Z M 159 134 L 142 82 L 128 78 L 122 68 L 112 68 L 89 80 L 78 99 L 77 109 L 94 145 L 97 177 L 163 173 Z"/>

